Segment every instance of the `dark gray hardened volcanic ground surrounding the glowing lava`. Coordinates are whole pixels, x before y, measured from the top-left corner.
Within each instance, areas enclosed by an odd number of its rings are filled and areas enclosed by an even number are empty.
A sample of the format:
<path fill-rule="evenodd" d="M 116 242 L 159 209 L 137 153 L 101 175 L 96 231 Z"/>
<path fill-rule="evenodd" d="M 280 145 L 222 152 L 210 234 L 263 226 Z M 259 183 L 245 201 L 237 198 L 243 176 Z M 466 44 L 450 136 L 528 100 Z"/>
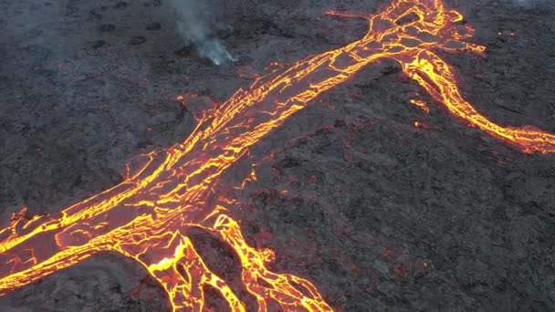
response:
<path fill-rule="evenodd" d="M 466 99 L 501 124 L 555 132 L 555 2 L 445 2 L 487 46 L 485 58 L 443 55 Z M 225 100 L 270 62 L 365 33 L 364 21 L 324 11 L 387 3 L 206 1 L 199 20 L 236 57 L 218 67 L 166 0 L 0 0 L 2 222 L 24 204 L 56 213 L 119 182 L 134 156 L 183 140 L 194 119 L 178 94 Z M 239 199 L 249 242 L 339 310 L 555 310 L 555 155 L 523 154 L 434 103 L 426 115 L 409 103 L 420 90 L 382 62 L 257 144 L 276 157 Z M 205 248 L 210 265 L 234 260 Z M 0 310 L 168 303 L 140 265 L 101 254 L 0 298 Z"/>

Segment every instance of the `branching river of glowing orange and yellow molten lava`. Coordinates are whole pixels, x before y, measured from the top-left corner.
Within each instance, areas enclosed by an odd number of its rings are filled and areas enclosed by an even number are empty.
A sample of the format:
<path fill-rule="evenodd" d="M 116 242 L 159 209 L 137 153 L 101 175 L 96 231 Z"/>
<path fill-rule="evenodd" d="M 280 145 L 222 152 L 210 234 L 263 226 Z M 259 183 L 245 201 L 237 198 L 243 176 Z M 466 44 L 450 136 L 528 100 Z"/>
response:
<path fill-rule="evenodd" d="M 140 168 L 110 190 L 65 209 L 58 218 L 16 213 L 0 232 L 0 295 L 101 251 L 119 252 L 143 265 L 160 282 L 173 310 L 201 310 L 204 287 L 214 287 L 233 310 L 246 310 L 233 287 L 211 272 L 188 237 L 202 228 L 235 251 L 246 291 L 258 309 L 270 302 L 285 310 L 328 311 L 331 307 L 308 280 L 275 274 L 266 265 L 270 250 L 246 244 L 239 224 L 217 196 L 218 179 L 249 147 L 278 128 L 320 93 L 383 58 L 398 61 L 456 117 L 526 152 L 555 152 L 555 136 L 531 127 L 501 127 L 480 115 L 460 95 L 452 69 L 434 51 L 472 51 L 469 26 L 440 0 L 397 0 L 365 18 L 369 31 L 346 47 L 300 60 L 257 78 L 214 109 L 204 110 L 193 133 L 165 151 L 143 156 Z"/>

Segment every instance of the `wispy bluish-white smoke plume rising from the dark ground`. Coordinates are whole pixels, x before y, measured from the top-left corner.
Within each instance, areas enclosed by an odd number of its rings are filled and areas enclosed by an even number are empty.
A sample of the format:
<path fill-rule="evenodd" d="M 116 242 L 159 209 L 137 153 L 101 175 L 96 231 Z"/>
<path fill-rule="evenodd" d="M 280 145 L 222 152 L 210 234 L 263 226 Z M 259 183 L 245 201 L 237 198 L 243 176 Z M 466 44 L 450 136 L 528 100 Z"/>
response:
<path fill-rule="evenodd" d="M 209 36 L 203 16 L 207 10 L 204 0 L 171 0 L 177 13 L 177 28 L 186 43 L 193 45 L 198 53 L 215 65 L 236 61 L 231 53 L 218 41 Z"/>

